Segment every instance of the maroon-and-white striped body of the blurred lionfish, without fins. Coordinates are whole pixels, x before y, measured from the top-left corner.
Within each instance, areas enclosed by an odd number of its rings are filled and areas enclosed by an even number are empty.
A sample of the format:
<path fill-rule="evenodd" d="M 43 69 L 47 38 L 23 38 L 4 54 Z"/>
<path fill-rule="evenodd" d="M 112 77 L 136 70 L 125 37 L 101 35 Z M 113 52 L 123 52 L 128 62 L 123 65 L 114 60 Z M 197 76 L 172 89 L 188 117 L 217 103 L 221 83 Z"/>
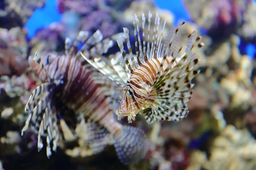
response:
<path fill-rule="evenodd" d="M 92 75 L 92 68 L 82 65 L 81 61 L 71 56 L 48 55 L 44 60 L 51 60 L 44 69 L 39 67 L 34 70 L 39 73 L 38 78 L 57 81 L 57 93 L 55 94 L 68 108 L 83 113 L 88 122 L 97 122 L 106 127 L 109 132 L 116 133 L 121 129 L 119 122 L 112 116 L 113 108 L 110 101 L 103 93 L 101 85 L 97 84 Z M 31 62 L 32 59 L 30 59 Z M 41 74 L 40 74 L 41 73 Z M 61 81 L 58 81 L 61 80 Z"/>

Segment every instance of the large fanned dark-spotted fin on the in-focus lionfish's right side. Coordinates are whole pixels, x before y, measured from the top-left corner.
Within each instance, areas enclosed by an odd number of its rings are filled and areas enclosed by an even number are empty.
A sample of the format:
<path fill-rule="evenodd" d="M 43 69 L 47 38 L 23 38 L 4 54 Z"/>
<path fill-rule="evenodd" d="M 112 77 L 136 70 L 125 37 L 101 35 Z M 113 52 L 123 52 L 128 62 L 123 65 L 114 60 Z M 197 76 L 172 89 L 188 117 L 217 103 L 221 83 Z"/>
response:
<path fill-rule="evenodd" d="M 191 98 L 191 80 L 199 74 L 195 70 L 198 59 L 195 58 L 197 49 L 204 44 L 200 42 L 201 37 L 195 38 L 195 31 L 189 34 L 186 40 L 182 41 L 179 28 L 181 23 L 173 32 L 169 33 L 169 45 L 165 43 L 164 55 L 157 72 L 152 88 L 157 95 L 154 100 L 157 102 L 155 108 L 145 109 L 145 119 L 148 123 L 158 120 L 180 121 L 189 113 L 187 102 Z M 193 48 L 196 47 L 194 53 Z M 164 62 L 169 57 L 171 61 L 163 70 Z"/>

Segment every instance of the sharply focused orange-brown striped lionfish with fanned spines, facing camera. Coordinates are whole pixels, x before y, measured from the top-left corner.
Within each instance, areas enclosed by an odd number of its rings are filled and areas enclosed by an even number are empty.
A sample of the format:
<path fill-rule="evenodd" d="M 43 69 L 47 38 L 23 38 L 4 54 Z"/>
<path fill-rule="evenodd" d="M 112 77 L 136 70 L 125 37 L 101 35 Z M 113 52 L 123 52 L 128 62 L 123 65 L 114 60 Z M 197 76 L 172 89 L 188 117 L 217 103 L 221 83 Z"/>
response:
<path fill-rule="evenodd" d="M 195 53 L 204 43 L 201 42 L 201 36 L 195 37 L 195 31 L 186 38 L 181 38 L 179 30 L 184 22 L 170 30 L 163 42 L 166 21 L 160 20 L 158 13 L 156 14 L 152 36 L 151 17 L 149 11 L 148 30 L 145 30 L 146 18 L 142 14 L 141 40 L 139 19 L 135 14 L 135 54 L 131 49 L 129 30 L 123 28 L 129 54 L 125 54 L 123 42 L 117 40 L 122 57 L 113 58 L 111 65 L 101 58 L 92 60 L 82 56 L 122 86 L 116 89 L 121 92 L 122 97 L 117 113 L 119 119 L 120 116 L 128 116 L 128 122 L 131 122 L 135 120 L 137 113 L 144 113 L 147 123 L 159 120 L 180 121 L 189 113 L 187 103 L 194 86 L 191 80 L 200 72 L 195 70 L 198 64 Z M 119 65 L 122 66 L 121 70 Z"/>

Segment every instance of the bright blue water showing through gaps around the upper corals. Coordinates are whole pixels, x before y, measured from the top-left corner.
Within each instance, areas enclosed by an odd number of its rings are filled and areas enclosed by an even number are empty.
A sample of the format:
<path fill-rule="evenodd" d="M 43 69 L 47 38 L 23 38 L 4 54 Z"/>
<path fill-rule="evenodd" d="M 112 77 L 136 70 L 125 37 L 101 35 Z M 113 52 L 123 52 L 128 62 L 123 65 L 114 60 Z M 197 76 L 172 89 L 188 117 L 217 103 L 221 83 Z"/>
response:
<path fill-rule="evenodd" d="M 167 9 L 172 11 L 175 16 L 175 25 L 177 25 L 180 20 L 189 20 L 189 14 L 183 6 L 182 0 L 154 0 L 159 8 Z M 256 2 L 256 0 L 254 0 Z M 44 28 L 49 26 L 53 22 L 59 22 L 61 20 L 62 14 L 58 13 L 56 0 L 47 0 L 44 8 L 35 10 L 32 17 L 28 20 L 25 27 L 28 30 L 28 38 L 35 35 L 39 28 Z M 202 29 L 201 33 L 205 34 L 205 30 Z M 240 45 L 241 51 L 244 54 L 249 55 L 253 58 L 256 52 L 256 45 L 245 44 Z"/>

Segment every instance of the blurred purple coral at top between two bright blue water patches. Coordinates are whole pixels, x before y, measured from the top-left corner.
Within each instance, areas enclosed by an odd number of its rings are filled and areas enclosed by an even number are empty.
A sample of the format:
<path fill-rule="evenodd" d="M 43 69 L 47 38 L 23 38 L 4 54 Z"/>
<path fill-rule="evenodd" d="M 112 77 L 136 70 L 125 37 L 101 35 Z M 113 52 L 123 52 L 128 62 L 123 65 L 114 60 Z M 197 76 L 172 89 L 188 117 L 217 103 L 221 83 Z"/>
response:
<path fill-rule="evenodd" d="M 127 25 L 123 21 L 122 10 L 131 1 L 59 0 L 58 9 L 64 14 L 60 23 L 65 28 L 64 37 L 73 39 L 79 30 L 94 32 L 99 29 L 104 38 L 121 32 L 122 26 Z"/>

